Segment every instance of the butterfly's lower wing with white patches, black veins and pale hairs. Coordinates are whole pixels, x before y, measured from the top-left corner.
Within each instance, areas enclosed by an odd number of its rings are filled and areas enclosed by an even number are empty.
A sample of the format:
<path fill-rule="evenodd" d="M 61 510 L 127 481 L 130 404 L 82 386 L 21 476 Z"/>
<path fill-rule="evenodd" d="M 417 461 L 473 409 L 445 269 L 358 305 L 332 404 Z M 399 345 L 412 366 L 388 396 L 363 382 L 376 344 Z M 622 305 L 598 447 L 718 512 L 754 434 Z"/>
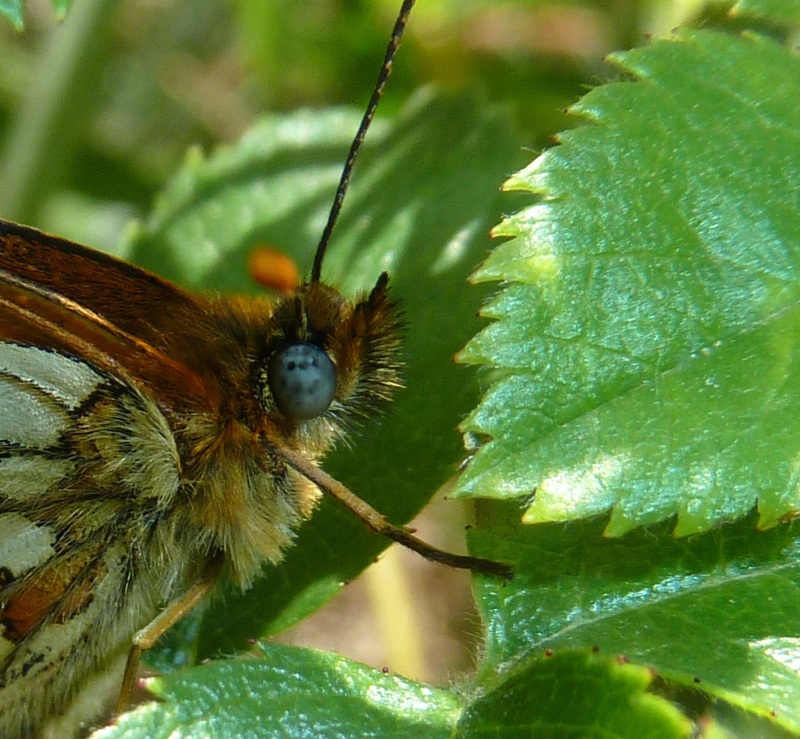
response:
<path fill-rule="evenodd" d="M 18 736 L 129 648 L 197 553 L 184 543 L 143 566 L 180 463 L 134 386 L 3 341 L 0 405 L 0 736 Z"/>

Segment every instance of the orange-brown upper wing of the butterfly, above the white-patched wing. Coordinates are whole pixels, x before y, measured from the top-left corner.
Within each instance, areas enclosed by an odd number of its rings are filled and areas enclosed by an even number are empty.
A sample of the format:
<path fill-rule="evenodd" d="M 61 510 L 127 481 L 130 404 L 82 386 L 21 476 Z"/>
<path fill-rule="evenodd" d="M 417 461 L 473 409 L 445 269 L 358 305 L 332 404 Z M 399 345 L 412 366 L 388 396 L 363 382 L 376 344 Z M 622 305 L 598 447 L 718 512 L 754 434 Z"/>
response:
<path fill-rule="evenodd" d="M 80 357 L 145 386 L 165 409 L 216 405 L 192 335 L 204 306 L 125 262 L 0 221 L 0 340 Z"/>

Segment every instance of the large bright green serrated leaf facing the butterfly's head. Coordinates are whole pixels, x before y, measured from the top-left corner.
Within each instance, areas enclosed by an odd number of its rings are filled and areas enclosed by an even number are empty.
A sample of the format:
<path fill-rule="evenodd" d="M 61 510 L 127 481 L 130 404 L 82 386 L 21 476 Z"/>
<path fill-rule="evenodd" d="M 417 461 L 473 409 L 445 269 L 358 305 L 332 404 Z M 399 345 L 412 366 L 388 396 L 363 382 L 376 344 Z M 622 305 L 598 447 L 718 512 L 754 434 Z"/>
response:
<path fill-rule="evenodd" d="M 511 284 L 461 358 L 500 372 L 463 424 L 491 441 L 461 494 L 525 520 L 609 509 L 619 535 L 800 509 L 800 63 L 758 36 L 684 31 L 614 63 L 509 186 L 476 279 Z"/>

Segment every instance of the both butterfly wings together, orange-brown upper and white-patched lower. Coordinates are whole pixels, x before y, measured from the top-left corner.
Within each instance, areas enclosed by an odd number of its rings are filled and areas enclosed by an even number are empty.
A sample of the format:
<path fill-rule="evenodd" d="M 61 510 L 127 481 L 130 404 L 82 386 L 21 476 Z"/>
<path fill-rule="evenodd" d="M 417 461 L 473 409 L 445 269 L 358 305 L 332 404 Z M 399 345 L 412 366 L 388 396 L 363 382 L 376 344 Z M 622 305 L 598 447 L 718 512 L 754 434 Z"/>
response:
<path fill-rule="evenodd" d="M 209 399 L 135 315 L 156 299 L 154 314 L 198 310 L 135 267 L 0 224 L 0 736 L 60 714 L 207 553 L 160 527 L 181 475 L 165 413 Z"/>

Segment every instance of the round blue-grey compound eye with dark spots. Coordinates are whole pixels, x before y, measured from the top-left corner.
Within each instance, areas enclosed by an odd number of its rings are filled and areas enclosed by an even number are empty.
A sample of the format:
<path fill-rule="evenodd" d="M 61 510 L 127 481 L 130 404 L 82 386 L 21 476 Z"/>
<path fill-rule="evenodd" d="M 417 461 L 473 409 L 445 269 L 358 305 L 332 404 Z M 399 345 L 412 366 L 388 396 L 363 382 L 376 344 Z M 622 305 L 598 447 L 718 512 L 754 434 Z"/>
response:
<path fill-rule="evenodd" d="M 290 344 L 269 361 L 269 387 L 278 410 L 297 421 L 321 416 L 336 393 L 336 367 L 314 344 Z"/>

